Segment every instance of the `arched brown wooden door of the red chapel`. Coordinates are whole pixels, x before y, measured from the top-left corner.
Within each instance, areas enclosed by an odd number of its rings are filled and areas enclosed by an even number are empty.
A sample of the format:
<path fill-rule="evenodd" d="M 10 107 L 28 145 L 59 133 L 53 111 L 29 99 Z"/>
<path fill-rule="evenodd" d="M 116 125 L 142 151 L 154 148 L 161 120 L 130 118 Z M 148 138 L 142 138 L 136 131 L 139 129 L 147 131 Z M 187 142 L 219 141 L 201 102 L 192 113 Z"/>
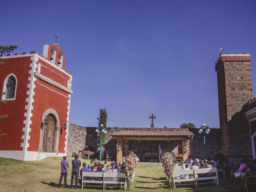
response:
<path fill-rule="evenodd" d="M 53 152 L 54 148 L 54 136 L 55 136 L 55 119 L 52 114 L 47 116 L 48 124 L 44 125 L 44 152 Z"/>

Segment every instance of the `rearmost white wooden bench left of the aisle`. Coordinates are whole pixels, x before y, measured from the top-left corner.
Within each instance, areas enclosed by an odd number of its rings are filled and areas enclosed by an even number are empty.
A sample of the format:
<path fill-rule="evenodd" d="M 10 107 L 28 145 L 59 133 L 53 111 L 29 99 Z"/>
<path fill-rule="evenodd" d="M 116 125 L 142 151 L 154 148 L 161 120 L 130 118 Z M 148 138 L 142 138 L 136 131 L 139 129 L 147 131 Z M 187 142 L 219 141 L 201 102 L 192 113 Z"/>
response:
<path fill-rule="evenodd" d="M 87 180 L 84 180 L 84 177 L 87 178 Z M 97 180 L 88 180 L 89 177 L 102 177 L 102 181 L 97 181 Z M 106 178 L 120 178 L 120 181 L 107 181 Z M 124 179 L 124 181 L 122 181 L 122 179 Z M 118 184 L 112 187 L 120 187 L 123 188 L 124 190 L 126 190 L 127 186 L 129 187 L 129 180 L 128 180 L 128 176 L 126 176 L 125 173 L 108 173 L 108 172 L 82 172 L 82 185 L 81 188 L 83 189 L 83 186 L 103 186 L 103 190 L 105 190 L 105 186 L 106 184 Z M 89 185 L 86 185 L 89 184 Z M 100 184 L 100 185 L 90 185 L 90 184 Z M 110 186 L 108 186 L 110 187 Z"/>

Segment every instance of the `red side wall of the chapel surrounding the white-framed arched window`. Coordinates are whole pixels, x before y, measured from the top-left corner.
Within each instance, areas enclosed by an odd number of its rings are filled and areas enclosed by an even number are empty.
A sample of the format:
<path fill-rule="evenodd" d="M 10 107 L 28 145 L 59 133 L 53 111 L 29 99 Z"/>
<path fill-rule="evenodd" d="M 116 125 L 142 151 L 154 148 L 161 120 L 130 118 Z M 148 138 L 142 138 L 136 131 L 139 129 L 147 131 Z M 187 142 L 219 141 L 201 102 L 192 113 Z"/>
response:
<path fill-rule="evenodd" d="M 26 120 L 24 113 L 26 112 L 25 106 L 26 92 L 29 90 L 28 77 L 30 76 L 29 70 L 31 56 L 24 56 L 18 58 L 3 59 L 4 64 L 0 65 L 0 90 L 2 92 L 5 78 L 9 74 L 14 74 L 17 78 L 16 99 L 6 101 L 6 104 L 0 106 L 0 115 L 8 114 L 8 118 L 2 119 L 0 122 L 0 130 L 7 135 L 0 139 L 0 150 L 22 150 L 20 146 L 23 142 L 22 128 L 25 127 L 23 121 Z"/>

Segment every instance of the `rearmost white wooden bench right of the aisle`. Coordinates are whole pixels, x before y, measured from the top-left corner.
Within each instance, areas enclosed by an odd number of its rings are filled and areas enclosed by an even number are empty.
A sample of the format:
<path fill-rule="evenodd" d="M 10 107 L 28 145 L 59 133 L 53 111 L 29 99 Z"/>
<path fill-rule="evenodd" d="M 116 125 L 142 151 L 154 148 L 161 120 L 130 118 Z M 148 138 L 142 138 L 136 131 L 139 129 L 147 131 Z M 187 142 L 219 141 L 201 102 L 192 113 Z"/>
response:
<path fill-rule="evenodd" d="M 174 188 L 176 188 L 176 186 L 179 185 L 192 185 L 194 184 L 196 187 L 198 186 L 198 184 L 209 184 L 209 183 L 215 183 L 216 185 L 219 185 L 219 180 L 218 180 L 218 172 L 217 172 L 217 168 L 201 168 L 201 169 L 192 169 L 192 170 L 183 170 L 178 168 L 175 168 L 177 166 L 174 166 L 174 172 L 173 172 L 173 176 L 172 176 L 172 181 L 171 178 L 169 178 L 169 185 L 171 186 L 171 182 L 173 182 L 174 184 Z M 209 174 L 213 174 L 213 176 L 210 176 Z M 203 177 L 200 177 L 199 174 L 206 174 Z M 208 174 L 208 175 L 207 175 Z M 188 179 L 182 179 L 181 176 L 182 175 L 193 175 L 194 178 L 188 178 Z M 196 175 L 198 175 L 198 178 L 196 178 Z M 198 182 L 201 180 L 208 180 L 208 182 Z M 214 181 L 211 181 L 214 180 Z M 191 182 L 194 181 L 194 183 L 188 183 L 188 184 L 184 184 L 184 182 Z M 181 184 L 176 184 L 182 182 Z"/>

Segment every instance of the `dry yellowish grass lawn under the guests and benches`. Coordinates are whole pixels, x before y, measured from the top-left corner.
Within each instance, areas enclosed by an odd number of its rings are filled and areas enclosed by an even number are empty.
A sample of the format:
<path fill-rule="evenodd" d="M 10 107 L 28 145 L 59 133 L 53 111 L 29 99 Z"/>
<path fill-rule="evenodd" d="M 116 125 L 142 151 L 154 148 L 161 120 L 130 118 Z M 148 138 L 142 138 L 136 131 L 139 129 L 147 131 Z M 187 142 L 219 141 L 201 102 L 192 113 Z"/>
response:
<path fill-rule="evenodd" d="M 71 164 L 73 158 L 68 158 Z M 52 192 L 70 191 L 63 186 L 57 188 L 60 177 L 60 162 L 62 158 L 50 157 L 41 161 L 24 162 L 20 160 L 0 157 L 0 192 Z M 81 159 L 88 163 L 88 160 Z M 70 166 L 71 167 L 71 166 Z M 69 168 L 67 182 L 70 185 L 71 168 Z M 220 186 L 204 184 L 178 187 L 176 190 L 168 187 L 164 179 L 161 165 L 138 164 L 135 173 L 135 182 L 131 191 L 136 192 L 240 192 L 239 185 L 233 185 L 230 179 L 220 179 Z M 130 185 L 131 186 L 131 185 Z M 78 185 L 80 188 L 80 185 Z M 73 191 L 74 189 L 72 189 Z M 96 192 L 102 188 L 86 188 L 85 192 Z M 123 191 L 106 189 L 107 192 Z"/>

